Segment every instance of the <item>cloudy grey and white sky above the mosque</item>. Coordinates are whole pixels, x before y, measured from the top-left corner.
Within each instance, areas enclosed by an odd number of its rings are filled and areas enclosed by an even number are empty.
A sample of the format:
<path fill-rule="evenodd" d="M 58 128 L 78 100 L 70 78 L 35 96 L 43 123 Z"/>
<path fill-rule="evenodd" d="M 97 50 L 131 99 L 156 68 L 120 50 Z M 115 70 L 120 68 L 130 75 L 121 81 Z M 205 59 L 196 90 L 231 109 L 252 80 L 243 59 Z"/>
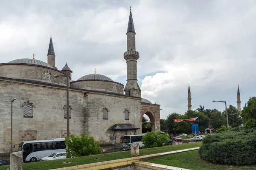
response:
<path fill-rule="evenodd" d="M 199 105 L 224 110 L 255 96 L 255 0 L 9 0 L 0 6 L 0 63 L 47 62 L 50 34 L 56 67 L 72 79 L 103 74 L 126 84 L 126 31 L 132 5 L 142 97 L 161 118 Z"/>

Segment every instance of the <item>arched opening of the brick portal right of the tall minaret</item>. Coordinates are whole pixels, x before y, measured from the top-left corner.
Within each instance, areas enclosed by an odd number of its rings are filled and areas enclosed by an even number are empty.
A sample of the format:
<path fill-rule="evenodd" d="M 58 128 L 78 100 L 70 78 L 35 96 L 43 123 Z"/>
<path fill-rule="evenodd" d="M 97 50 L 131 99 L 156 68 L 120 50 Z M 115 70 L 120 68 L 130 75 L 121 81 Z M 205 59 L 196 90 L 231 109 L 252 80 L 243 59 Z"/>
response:
<path fill-rule="evenodd" d="M 154 116 L 150 111 L 145 112 L 141 116 L 141 122 L 142 133 L 154 131 Z"/>

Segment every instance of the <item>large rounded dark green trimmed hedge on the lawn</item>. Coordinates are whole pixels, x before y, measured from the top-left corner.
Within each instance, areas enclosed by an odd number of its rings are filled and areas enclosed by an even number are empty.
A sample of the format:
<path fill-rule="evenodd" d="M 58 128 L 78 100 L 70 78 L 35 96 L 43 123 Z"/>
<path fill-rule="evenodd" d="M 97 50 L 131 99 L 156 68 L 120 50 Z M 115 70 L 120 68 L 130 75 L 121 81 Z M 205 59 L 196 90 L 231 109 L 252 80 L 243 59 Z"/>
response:
<path fill-rule="evenodd" d="M 256 163 L 256 128 L 243 127 L 208 135 L 199 149 L 201 159 L 223 164 Z"/>

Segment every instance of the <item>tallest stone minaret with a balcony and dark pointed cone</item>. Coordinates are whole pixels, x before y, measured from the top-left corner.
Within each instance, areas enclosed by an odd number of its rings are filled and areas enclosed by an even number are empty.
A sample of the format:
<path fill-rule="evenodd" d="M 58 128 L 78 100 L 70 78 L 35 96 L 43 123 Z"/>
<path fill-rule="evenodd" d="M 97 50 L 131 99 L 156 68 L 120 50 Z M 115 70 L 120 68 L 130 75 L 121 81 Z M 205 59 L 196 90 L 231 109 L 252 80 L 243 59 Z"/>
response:
<path fill-rule="evenodd" d="M 127 83 L 125 85 L 125 95 L 141 97 L 140 86 L 137 82 L 137 59 L 140 53 L 136 51 L 135 29 L 130 8 L 130 17 L 127 28 L 127 51 L 124 53 L 124 59 L 127 66 Z"/>

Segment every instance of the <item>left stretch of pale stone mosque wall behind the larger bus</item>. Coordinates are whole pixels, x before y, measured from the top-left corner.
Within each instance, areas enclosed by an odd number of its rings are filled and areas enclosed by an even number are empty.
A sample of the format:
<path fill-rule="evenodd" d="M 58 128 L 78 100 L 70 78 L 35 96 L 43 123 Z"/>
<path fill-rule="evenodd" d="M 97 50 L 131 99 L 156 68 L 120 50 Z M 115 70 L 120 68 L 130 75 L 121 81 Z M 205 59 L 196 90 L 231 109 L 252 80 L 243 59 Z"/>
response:
<path fill-rule="evenodd" d="M 31 134 L 32 139 L 37 140 L 66 136 L 67 119 L 64 119 L 63 109 L 66 105 L 65 87 L 21 84 L 18 81 L 0 79 L 0 96 L 0 153 L 7 152 L 10 148 L 13 98 L 16 98 L 13 102 L 13 144 L 20 143 L 26 135 Z M 84 92 L 70 90 L 69 98 L 72 107 L 70 131 L 80 135 L 84 132 L 83 121 L 86 110 Z M 23 117 L 22 104 L 28 100 L 34 105 L 33 118 Z"/>

